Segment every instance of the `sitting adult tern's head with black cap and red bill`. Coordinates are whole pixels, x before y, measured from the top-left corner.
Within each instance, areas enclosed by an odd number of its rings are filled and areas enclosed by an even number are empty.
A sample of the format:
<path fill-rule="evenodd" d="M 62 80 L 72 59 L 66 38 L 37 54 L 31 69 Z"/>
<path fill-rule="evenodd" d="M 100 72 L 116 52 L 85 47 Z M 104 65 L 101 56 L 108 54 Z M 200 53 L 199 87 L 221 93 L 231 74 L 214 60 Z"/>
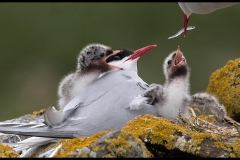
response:
<path fill-rule="evenodd" d="M 119 49 L 106 58 L 108 64 L 121 67 L 124 70 L 137 71 L 137 61 L 143 54 L 147 53 L 156 45 L 150 45 L 138 50 L 132 51 L 130 49 Z"/>

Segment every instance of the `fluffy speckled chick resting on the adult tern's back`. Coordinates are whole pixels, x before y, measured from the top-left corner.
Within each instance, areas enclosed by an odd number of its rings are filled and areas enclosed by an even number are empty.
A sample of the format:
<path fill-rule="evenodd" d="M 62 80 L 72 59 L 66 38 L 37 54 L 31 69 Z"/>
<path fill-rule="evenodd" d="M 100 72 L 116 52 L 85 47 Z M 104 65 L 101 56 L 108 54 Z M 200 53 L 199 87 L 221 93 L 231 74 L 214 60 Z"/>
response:
<path fill-rule="evenodd" d="M 112 54 L 110 47 L 103 44 L 89 44 L 84 47 L 77 58 L 75 72 L 65 76 L 58 88 L 58 105 L 62 109 L 88 84 L 98 79 L 99 75 L 113 68 L 119 68 L 105 62 Z"/>

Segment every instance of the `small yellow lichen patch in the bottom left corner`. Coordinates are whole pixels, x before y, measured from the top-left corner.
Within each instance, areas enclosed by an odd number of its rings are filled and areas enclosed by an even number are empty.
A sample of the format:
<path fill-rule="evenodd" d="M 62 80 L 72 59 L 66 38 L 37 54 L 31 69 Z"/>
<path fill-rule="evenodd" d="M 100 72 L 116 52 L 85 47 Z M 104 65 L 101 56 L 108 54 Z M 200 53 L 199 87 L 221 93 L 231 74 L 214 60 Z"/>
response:
<path fill-rule="evenodd" d="M 0 158 L 19 158 L 20 155 L 10 146 L 0 143 Z"/>

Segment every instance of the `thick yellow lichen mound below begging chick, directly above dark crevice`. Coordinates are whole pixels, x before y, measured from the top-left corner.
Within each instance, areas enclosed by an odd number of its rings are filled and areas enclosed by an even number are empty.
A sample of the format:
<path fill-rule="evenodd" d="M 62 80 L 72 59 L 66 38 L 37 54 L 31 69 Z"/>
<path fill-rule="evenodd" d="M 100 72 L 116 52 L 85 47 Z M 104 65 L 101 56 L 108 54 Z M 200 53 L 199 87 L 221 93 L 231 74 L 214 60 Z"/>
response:
<path fill-rule="evenodd" d="M 130 131 L 141 138 L 148 137 L 152 144 L 164 144 L 167 149 L 174 148 L 174 141 L 177 138 L 174 135 L 176 132 L 187 133 L 187 130 L 182 126 L 173 124 L 162 117 L 154 117 L 148 114 L 129 121 L 122 128 L 122 131 Z"/>

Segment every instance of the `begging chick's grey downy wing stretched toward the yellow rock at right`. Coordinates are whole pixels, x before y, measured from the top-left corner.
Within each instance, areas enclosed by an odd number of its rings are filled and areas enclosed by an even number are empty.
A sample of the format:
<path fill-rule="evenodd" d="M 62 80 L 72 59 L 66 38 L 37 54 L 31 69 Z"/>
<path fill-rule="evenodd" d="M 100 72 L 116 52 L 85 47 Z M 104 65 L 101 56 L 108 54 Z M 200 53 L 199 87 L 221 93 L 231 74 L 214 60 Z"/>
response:
<path fill-rule="evenodd" d="M 188 101 L 188 105 L 200 107 L 208 106 L 218 120 L 223 120 L 227 115 L 226 109 L 219 103 L 218 99 L 208 93 L 196 93 L 192 95 Z"/>

